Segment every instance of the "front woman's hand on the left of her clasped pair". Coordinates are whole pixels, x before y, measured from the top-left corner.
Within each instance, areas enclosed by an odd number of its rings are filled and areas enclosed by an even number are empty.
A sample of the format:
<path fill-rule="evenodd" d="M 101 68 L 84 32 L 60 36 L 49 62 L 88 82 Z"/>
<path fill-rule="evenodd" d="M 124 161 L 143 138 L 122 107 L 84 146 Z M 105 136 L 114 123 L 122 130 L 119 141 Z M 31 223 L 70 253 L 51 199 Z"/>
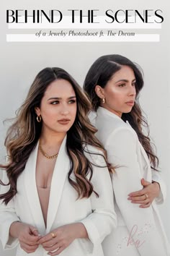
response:
<path fill-rule="evenodd" d="M 35 252 L 39 246 L 40 235 L 34 226 L 16 221 L 10 227 L 10 235 L 19 239 L 20 247 L 27 253 Z"/>

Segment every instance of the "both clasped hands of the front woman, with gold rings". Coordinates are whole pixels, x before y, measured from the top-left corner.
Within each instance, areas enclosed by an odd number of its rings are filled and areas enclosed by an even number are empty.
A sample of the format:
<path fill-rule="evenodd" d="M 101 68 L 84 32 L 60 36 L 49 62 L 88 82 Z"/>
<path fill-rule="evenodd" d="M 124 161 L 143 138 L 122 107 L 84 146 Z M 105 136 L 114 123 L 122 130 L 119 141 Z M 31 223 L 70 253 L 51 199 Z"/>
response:
<path fill-rule="evenodd" d="M 82 223 L 60 226 L 44 236 L 34 226 L 26 223 L 17 222 L 17 226 L 20 247 L 27 253 L 35 252 L 41 244 L 48 255 L 59 255 L 74 239 L 87 237 Z"/>

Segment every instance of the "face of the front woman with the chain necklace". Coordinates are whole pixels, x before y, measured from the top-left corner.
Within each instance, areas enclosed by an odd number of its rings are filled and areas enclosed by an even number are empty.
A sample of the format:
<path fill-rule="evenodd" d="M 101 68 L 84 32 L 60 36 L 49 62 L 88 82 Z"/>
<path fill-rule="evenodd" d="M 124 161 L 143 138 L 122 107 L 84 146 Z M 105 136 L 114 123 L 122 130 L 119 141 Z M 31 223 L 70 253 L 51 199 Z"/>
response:
<path fill-rule="evenodd" d="M 63 79 L 51 82 L 35 111 L 42 117 L 43 132 L 68 132 L 76 118 L 76 93 L 71 83 Z"/>

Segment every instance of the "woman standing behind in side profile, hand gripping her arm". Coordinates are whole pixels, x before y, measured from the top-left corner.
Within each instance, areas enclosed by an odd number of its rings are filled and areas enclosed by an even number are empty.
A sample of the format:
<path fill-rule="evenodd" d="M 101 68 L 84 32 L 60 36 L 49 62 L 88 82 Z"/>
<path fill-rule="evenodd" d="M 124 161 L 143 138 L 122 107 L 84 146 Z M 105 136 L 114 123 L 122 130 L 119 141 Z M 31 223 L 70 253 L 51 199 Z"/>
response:
<path fill-rule="evenodd" d="M 161 201 L 161 195 L 154 200 L 153 187 L 158 183 L 144 189 L 140 183 L 144 178 L 151 184 L 158 174 L 158 158 L 142 129 L 143 124 L 148 127 L 138 103 L 142 88 L 140 67 L 114 54 L 94 61 L 84 82 L 97 114 L 93 120 L 97 138 L 107 150 L 109 163 L 115 166 L 112 186 L 117 229 L 104 239 L 105 256 L 170 255 L 155 202 Z M 163 192 L 163 184 L 161 189 Z"/>

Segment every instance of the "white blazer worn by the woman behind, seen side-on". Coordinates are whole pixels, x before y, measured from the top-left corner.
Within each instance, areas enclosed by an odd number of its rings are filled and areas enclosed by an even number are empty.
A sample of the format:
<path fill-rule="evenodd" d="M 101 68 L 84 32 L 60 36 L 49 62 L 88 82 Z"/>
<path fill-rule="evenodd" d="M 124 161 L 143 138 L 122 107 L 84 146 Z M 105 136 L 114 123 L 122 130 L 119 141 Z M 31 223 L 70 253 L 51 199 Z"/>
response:
<path fill-rule="evenodd" d="M 107 150 L 108 161 L 117 167 L 116 173 L 112 175 L 112 186 L 118 226 L 102 243 L 104 255 L 170 255 L 156 202 L 153 201 L 149 208 L 139 208 L 138 204 L 128 200 L 130 192 L 143 188 L 140 184 L 142 178 L 152 181 L 150 162 L 135 130 L 128 121 L 125 123 L 119 116 L 102 107 L 97 110 L 95 125 L 97 137 Z M 161 178 L 159 183 L 164 195 Z"/>

